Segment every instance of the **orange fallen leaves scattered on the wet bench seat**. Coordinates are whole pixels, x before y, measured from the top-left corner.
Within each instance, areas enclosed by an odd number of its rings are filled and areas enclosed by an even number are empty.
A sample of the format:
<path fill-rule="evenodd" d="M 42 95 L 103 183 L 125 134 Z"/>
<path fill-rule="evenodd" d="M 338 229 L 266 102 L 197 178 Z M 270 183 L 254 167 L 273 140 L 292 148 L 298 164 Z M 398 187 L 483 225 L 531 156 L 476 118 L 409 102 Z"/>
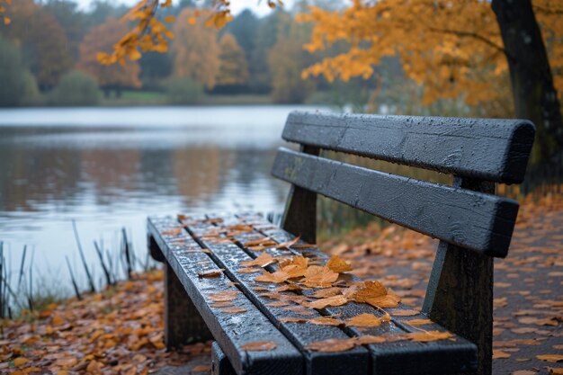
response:
<path fill-rule="evenodd" d="M 376 327 L 382 324 L 394 324 L 392 323 L 394 316 L 412 317 L 419 314 L 417 311 L 402 308 L 395 311 L 395 308 L 399 307 L 401 299 L 380 281 L 353 281 L 349 275 L 345 274 L 353 271 L 352 265 L 344 261 L 339 255 L 333 255 L 325 264 L 322 264 L 323 261 L 319 259 L 320 254 L 311 249 L 316 245 L 303 243 L 299 241 L 299 237 L 282 243 L 278 243 L 273 237 L 268 237 L 263 231 L 268 228 L 276 228 L 264 219 L 258 219 L 252 215 L 250 217 L 244 215 L 238 218 L 233 217 L 228 219 L 227 222 L 221 218 L 195 219 L 185 215 L 178 215 L 178 219 L 179 223 L 174 228 L 166 228 L 161 233 L 180 235 L 182 228 L 188 228 L 192 236 L 203 244 L 232 245 L 241 243 L 241 246 L 258 254 L 252 260 L 240 262 L 238 265 L 242 268 L 238 268 L 235 272 L 260 272 L 262 274 L 256 276 L 254 281 L 282 284 L 276 289 L 264 288 L 263 286 L 253 287 L 260 297 L 276 300 L 268 306 L 285 309 L 299 316 L 310 316 L 316 315 L 314 309 L 321 310 L 322 314 L 324 308 L 339 307 L 349 302 L 355 302 L 371 305 L 375 308 L 374 312 L 383 313 L 380 316 L 374 313 L 363 313 L 355 317 L 348 317 L 345 320 L 340 318 L 340 314 L 313 318 L 281 317 L 282 322 L 308 323 L 320 326 Z M 182 238 L 179 238 L 173 241 L 182 240 Z M 310 249 L 306 256 L 296 255 L 290 251 L 290 249 L 294 251 L 302 248 Z M 213 253 L 213 245 L 204 250 Z M 200 272 L 199 275 L 206 278 L 219 277 L 223 271 L 221 269 L 215 272 Z M 245 312 L 245 308 L 229 303 L 235 301 L 238 297 L 238 293 L 233 291 L 235 290 L 211 294 L 208 298 L 214 303 L 210 306 L 220 308 L 221 311 L 229 314 Z M 392 310 L 388 312 L 384 308 L 392 308 Z M 455 340 L 449 332 L 429 331 L 420 327 L 433 325 L 433 322 L 425 317 L 407 319 L 401 323 L 411 326 L 416 332 L 402 335 L 361 335 L 344 340 L 330 339 L 308 344 L 306 348 L 316 352 L 343 352 L 361 344 L 381 344 L 401 340 L 415 342 Z M 275 348 L 276 345 L 272 345 L 272 347 Z M 260 350 L 264 350 L 263 346 L 260 346 Z"/>

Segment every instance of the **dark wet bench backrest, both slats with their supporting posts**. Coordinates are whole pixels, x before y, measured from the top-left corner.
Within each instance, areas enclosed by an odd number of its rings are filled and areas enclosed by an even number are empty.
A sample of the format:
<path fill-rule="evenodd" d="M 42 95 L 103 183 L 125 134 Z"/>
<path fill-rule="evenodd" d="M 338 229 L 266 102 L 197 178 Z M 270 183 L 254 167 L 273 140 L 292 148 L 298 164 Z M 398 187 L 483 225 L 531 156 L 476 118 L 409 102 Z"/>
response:
<path fill-rule="evenodd" d="M 507 254 L 518 211 L 495 183 L 523 181 L 534 134 L 523 120 L 292 112 L 282 137 L 300 152 L 281 148 L 273 164 L 292 183 L 282 228 L 314 243 L 320 193 L 440 238 L 422 311 L 477 344 L 476 373 L 490 374 L 491 256 Z M 453 185 L 319 157 L 321 148 L 453 174 Z"/>

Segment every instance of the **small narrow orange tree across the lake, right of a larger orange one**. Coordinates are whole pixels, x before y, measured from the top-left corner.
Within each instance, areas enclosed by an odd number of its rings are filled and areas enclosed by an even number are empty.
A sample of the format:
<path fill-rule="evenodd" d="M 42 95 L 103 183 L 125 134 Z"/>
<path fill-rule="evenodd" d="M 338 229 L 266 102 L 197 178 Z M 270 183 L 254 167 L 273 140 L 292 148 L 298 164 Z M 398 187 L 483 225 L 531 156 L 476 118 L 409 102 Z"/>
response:
<path fill-rule="evenodd" d="M 217 85 L 244 85 L 248 79 L 245 51 L 232 34 L 225 34 L 219 42 L 219 74 Z"/>

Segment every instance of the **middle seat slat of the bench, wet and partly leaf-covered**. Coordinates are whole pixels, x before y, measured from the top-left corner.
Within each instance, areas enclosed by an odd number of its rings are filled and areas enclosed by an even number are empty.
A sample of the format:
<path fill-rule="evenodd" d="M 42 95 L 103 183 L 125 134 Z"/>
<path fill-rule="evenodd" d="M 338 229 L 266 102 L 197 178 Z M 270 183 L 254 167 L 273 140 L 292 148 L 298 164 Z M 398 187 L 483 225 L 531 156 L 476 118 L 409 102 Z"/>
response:
<path fill-rule="evenodd" d="M 190 219 L 192 218 L 191 216 Z M 258 275 L 257 273 L 237 272 L 237 270 L 244 268 L 240 263 L 250 261 L 253 259 L 252 257 L 235 244 L 217 243 L 217 241 L 211 238 L 202 236 L 210 233 L 210 229 L 216 228 L 211 224 L 187 225 L 186 228 L 192 236 L 197 238 L 201 245 L 210 249 L 210 256 L 220 267 L 225 268 L 228 277 L 238 283 L 239 288 L 244 291 L 246 297 L 252 300 L 256 307 L 269 317 L 275 326 L 305 355 L 307 374 L 340 375 L 344 373 L 367 373 L 369 355 L 368 351 L 362 347 L 343 353 L 316 353 L 304 349 L 306 345 L 317 341 L 329 338 L 345 339 L 348 338 L 348 335 L 345 335 L 342 330 L 335 326 L 296 325 L 295 323 L 281 321 L 280 319 L 283 317 L 303 318 L 304 316 L 286 310 L 283 307 L 267 306 L 269 303 L 276 301 L 276 299 L 265 298 L 261 295 L 264 292 L 258 292 L 254 288 L 256 286 L 267 287 L 270 284 L 256 282 L 254 279 Z M 291 292 L 281 292 L 280 294 L 294 295 Z M 306 316 L 306 318 L 322 317 L 314 309 L 308 309 L 308 311 L 311 315 Z"/>

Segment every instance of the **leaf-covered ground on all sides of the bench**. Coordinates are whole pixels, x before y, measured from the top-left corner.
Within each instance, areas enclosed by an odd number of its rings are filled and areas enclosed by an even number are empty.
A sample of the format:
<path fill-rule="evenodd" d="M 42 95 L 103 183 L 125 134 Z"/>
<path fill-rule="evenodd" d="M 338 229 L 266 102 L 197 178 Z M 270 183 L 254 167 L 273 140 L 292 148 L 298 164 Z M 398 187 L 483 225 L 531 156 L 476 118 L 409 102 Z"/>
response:
<path fill-rule="evenodd" d="M 495 374 L 563 373 L 563 198 L 526 201 L 511 252 L 495 264 Z M 370 227 L 325 244 L 353 272 L 379 280 L 420 308 L 435 243 L 413 232 Z M 138 275 L 82 301 L 5 321 L 2 373 L 204 374 L 210 345 L 166 352 L 162 273 Z"/>

